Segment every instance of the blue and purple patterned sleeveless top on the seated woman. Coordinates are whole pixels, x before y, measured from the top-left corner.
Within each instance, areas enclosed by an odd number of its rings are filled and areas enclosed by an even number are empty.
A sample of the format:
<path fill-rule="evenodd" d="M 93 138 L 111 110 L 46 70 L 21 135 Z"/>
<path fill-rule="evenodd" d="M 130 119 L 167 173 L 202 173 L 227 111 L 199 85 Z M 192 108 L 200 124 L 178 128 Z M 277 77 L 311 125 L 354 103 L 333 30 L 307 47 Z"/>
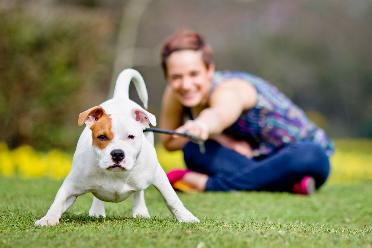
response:
<path fill-rule="evenodd" d="M 224 133 L 248 141 L 254 157 L 269 155 L 288 145 L 313 141 L 330 157 L 334 143 L 318 128 L 304 111 L 294 104 L 278 88 L 256 75 L 237 71 L 217 71 L 212 79 L 212 88 L 231 78 L 247 81 L 257 90 L 256 105 L 243 112 L 239 119 Z"/>

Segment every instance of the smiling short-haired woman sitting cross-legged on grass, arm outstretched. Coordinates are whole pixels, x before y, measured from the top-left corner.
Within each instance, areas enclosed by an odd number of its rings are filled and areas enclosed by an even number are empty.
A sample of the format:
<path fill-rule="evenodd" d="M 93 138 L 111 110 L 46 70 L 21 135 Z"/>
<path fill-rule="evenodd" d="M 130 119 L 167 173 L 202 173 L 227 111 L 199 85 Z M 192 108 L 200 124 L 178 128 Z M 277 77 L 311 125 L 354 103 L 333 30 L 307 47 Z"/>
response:
<path fill-rule="evenodd" d="M 211 48 L 192 30 L 166 39 L 161 58 L 168 81 L 161 128 L 199 136 L 206 148 L 160 136 L 168 150 L 183 150 L 188 167 L 168 173 L 173 187 L 311 194 L 325 182 L 333 141 L 275 86 L 248 73 L 216 72 Z"/>

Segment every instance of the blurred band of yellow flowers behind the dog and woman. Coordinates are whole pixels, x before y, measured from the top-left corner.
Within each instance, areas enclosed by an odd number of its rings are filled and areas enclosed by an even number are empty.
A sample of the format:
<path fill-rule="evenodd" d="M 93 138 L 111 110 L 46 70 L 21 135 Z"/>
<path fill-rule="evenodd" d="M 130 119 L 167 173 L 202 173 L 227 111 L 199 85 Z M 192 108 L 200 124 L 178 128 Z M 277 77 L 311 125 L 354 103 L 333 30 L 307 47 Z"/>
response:
<path fill-rule="evenodd" d="M 329 183 L 358 183 L 372 180 L 372 140 L 336 140 L 336 153 L 331 157 Z M 167 151 L 161 144 L 155 146 L 158 160 L 165 171 L 186 168 L 182 151 Z M 63 179 L 70 172 L 73 155 L 54 149 L 35 151 L 22 145 L 10 151 L 6 143 L 0 143 L 0 175 L 21 178 L 48 177 Z"/>

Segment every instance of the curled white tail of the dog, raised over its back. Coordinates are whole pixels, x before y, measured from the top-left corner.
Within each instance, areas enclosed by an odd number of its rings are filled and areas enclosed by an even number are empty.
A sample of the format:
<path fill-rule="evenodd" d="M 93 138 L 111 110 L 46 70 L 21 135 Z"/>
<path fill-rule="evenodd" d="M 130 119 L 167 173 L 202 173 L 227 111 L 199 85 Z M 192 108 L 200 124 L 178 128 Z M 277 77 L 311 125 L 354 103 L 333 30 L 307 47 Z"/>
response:
<path fill-rule="evenodd" d="M 147 109 L 148 94 L 141 74 L 134 69 L 125 69 L 122 71 L 118 79 L 116 79 L 115 90 L 112 98 L 125 98 L 129 99 L 129 84 L 131 81 L 136 87 L 137 94 L 143 103 L 144 109 Z"/>

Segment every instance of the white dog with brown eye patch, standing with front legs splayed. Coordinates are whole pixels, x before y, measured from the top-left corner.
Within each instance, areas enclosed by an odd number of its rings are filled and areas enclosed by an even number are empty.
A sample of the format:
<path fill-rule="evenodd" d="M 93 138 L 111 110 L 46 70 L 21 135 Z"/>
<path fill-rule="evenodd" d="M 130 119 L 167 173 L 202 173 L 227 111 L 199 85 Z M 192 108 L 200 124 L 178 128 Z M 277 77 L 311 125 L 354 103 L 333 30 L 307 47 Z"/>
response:
<path fill-rule="evenodd" d="M 161 193 L 169 211 L 183 222 L 199 222 L 171 187 L 154 148 L 153 133 L 143 130 L 156 125 L 155 116 L 129 100 L 131 80 L 147 108 L 147 90 L 138 71 L 126 69 L 116 80 L 113 98 L 79 115 L 86 128 L 77 142 L 71 171 L 55 196 L 47 214 L 35 226 L 53 226 L 76 200 L 94 195 L 90 216 L 105 217 L 104 202 L 121 202 L 133 194 L 133 217 L 147 217 L 143 190 L 150 184 Z"/>

